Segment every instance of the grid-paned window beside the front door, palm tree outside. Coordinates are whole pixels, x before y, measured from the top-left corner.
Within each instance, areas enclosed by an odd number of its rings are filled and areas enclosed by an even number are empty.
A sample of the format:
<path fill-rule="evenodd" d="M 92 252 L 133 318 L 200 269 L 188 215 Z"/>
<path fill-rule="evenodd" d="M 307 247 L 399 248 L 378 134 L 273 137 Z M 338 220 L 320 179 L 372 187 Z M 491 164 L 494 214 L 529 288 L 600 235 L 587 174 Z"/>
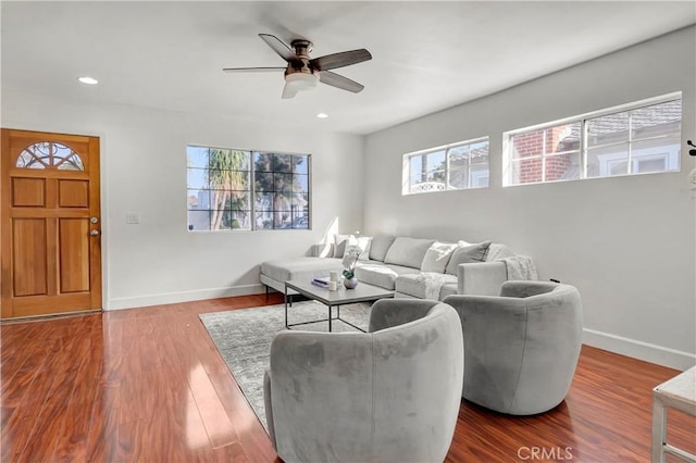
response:
<path fill-rule="evenodd" d="M 189 230 L 309 228 L 309 155 L 189 146 Z"/>

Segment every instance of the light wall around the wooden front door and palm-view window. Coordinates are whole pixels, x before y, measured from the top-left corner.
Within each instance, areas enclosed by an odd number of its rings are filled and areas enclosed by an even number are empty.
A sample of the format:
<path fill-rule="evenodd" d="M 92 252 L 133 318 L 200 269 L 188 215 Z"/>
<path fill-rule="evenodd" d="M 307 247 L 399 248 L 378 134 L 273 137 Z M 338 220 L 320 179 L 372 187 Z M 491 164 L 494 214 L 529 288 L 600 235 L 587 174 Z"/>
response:
<path fill-rule="evenodd" d="M 362 227 L 360 136 L 7 92 L 2 126 L 100 137 L 105 309 L 261 292 L 261 262 L 302 255 L 336 218 L 340 232 Z M 189 143 L 312 154 L 313 229 L 189 233 Z"/>

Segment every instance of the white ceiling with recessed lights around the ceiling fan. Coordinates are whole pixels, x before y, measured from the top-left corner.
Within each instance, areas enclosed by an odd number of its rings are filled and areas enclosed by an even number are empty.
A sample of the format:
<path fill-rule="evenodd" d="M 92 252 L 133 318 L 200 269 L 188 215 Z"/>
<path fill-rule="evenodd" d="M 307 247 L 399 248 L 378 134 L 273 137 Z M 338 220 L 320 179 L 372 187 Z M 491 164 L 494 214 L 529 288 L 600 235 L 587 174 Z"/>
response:
<path fill-rule="evenodd" d="M 1 15 L 2 91 L 369 134 L 694 24 L 696 3 L 2 1 Z M 312 57 L 366 48 L 336 70 L 365 89 L 282 100 L 281 72 L 223 73 L 284 65 L 259 33 L 310 39 Z"/>

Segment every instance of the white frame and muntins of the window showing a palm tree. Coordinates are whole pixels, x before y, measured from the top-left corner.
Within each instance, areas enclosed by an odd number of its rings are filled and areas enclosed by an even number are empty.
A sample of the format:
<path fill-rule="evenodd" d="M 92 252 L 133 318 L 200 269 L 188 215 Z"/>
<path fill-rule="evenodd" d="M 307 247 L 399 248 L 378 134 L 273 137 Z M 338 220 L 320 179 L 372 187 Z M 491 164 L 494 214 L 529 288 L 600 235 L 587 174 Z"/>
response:
<path fill-rule="evenodd" d="M 228 233 L 228 232 L 275 232 L 275 230 L 311 230 L 312 229 L 312 155 L 310 153 L 295 153 L 295 152 L 285 152 L 285 151 L 270 151 L 270 150 L 256 150 L 256 149 L 244 149 L 244 148 L 223 148 L 223 147 L 219 147 L 219 146 L 210 146 L 210 145 L 201 145 L 201 143 L 187 143 L 186 145 L 186 154 L 187 154 L 187 160 L 188 160 L 188 150 L 189 148 L 200 148 L 200 149 L 207 149 L 207 150 L 213 150 L 213 149 L 219 149 L 219 150 L 229 150 L 229 151 L 239 151 L 239 152 L 244 152 L 247 157 L 247 164 L 248 164 L 248 168 L 247 170 L 241 170 L 238 172 L 244 172 L 245 174 L 247 174 L 247 178 L 248 178 L 248 185 L 247 185 L 247 189 L 245 190 L 231 190 L 231 191 L 244 191 L 247 197 L 248 197 L 248 201 L 249 201 L 249 205 L 248 208 L 245 209 L 245 211 L 249 212 L 249 227 L 248 228 L 223 228 L 223 229 L 211 229 L 211 228 L 198 228 L 195 229 L 192 228 L 192 225 L 190 224 L 190 220 L 188 217 L 188 213 L 191 211 L 198 211 L 197 209 L 190 209 L 190 205 L 188 203 L 189 200 L 189 195 L 188 192 L 191 190 L 199 190 L 199 191 L 215 191 L 216 189 L 214 188 L 210 188 L 210 185 L 208 185 L 208 188 L 190 188 L 188 186 L 188 175 L 189 175 L 189 171 L 191 170 L 198 170 L 198 171 L 202 171 L 202 172 L 209 172 L 210 171 L 210 164 L 208 164 L 206 167 L 194 167 L 188 165 L 188 161 L 187 161 L 187 166 L 186 166 L 186 176 L 187 176 L 187 186 L 186 186 L 186 213 L 187 213 L 187 220 L 186 220 L 186 224 L 187 224 L 187 230 L 189 233 Z M 289 227 L 275 227 L 272 226 L 271 228 L 264 228 L 264 227 L 260 227 L 257 224 L 257 213 L 258 212 L 269 212 L 266 210 L 260 210 L 257 208 L 257 200 L 258 200 L 258 196 L 262 195 L 262 193 L 271 193 L 274 195 L 277 191 L 257 191 L 257 170 L 254 167 L 254 158 L 257 154 L 271 154 L 271 155 L 289 155 L 289 157 L 294 157 L 294 158 L 303 158 L 307 162 L 307 174 L 296 174 L 295 172 L 291 173 L 285 173 L 285 174 L 290 174 L 290 175 L 302 175 L 302 176 L 307 176 L 307 225 L 302 226 L 302 227 L 296 227 L 293 226 L 294 222 L 295 222 L 295 213 L 291 212 L 290 213 L 290 226 Z M 237 172 L 237 171 L 235 171 Z M 263 172 L 266 174 L 283 174 L 283 172 L 281 171 L 259 171 L 259 172 Z M 212 205 L 211 205 L 212 207 Z M 200 209 L 200 211 L 212 211 L 211 209 Z M 271 211 L 271 212 L 275 212 L 275 211 Z"/>

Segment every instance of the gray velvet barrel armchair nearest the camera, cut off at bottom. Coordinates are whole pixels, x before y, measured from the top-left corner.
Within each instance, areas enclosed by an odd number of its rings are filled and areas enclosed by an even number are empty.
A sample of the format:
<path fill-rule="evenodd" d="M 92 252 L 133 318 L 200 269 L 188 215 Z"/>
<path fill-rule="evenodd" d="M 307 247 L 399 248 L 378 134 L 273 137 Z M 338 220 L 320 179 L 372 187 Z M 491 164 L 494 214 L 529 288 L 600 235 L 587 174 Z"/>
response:
<path fill-rule="evenodd" d="M 282 331 L 264 380 L 286 462 L 435 462 L 451 445 L 463 374 L 457 312 L 381 300 L 368 333 Z"/>

